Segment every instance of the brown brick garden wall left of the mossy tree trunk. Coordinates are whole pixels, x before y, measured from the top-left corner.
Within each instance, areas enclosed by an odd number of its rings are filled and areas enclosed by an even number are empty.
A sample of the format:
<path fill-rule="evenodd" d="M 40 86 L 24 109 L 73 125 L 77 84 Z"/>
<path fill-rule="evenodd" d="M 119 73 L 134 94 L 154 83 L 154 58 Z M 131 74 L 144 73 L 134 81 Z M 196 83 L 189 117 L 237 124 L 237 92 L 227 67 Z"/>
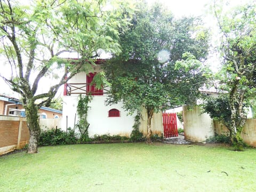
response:
<path fill-rule="evenodd" d="M 28 142 L 26 118 L 0 115 L 0 155 L 21 149 Z"/>

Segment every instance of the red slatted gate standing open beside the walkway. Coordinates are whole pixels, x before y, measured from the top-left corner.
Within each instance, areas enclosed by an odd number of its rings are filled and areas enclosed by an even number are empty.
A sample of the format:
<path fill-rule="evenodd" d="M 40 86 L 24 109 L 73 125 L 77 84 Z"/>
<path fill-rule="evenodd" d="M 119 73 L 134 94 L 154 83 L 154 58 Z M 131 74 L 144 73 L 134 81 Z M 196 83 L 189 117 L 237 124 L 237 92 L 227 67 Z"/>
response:
<path fill-rule="evenodd" d="M 163 113 L 164 138 L 178 137 L 177 115 L 175 113 Z"/>

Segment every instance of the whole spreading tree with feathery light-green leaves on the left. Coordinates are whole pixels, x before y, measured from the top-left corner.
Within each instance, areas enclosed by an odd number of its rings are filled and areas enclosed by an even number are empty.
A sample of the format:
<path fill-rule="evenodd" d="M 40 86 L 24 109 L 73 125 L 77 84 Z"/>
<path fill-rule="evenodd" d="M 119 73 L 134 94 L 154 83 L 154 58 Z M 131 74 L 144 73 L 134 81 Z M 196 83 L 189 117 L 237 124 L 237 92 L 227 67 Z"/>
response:
<path fill-rule="evenodd" d="M 120 52 L 118 30 L 127 25 L 129 7 L 123 2 L 122 10 L 115 5 L 107 9 L 103 0 L 29 3 L 0 0 L 0 53 L 11 67 L 11 75 L 1 73 L 1 77 L 21 95 L 30 132 L 28 153 L 36 153 L 38 108 L 50 103 L 59 87 L 76 73 L 88 71 L 100 50 Z M 63 52 L 77 52 L 80 58 L 62 59 Z M 63 67 L 68 70 L 64 72 Z M 60 81 L 48 92 L 38 93 L 38 82 L 54 68 L 63 71 Z"/>

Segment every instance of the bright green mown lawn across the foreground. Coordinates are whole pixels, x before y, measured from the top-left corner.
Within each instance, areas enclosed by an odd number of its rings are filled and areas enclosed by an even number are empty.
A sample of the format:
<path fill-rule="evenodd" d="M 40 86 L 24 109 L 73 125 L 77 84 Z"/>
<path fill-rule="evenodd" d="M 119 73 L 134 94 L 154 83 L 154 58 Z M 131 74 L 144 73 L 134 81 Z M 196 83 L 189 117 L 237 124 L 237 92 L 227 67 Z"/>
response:
<path fill-rule="evenodd" d="M 0 191 L 254 191 L 256 150 L 117 143 L 0 157 Z M 227 173 L 227 174 L 226 174 Z"/>

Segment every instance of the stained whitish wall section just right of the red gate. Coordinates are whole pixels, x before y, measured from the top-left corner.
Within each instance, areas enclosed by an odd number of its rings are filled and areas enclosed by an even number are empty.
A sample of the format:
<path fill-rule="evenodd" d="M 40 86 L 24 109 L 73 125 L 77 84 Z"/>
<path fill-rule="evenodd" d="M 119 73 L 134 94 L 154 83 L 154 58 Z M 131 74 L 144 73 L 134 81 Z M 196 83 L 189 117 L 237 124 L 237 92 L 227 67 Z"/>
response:
<path fill-rule="evenodd" d="M 198 106 L 183 106 L 183 122 L 185 139 L 203 142 L 214 136 L 213 121 L 208 114 L 202 114 Z"/>

